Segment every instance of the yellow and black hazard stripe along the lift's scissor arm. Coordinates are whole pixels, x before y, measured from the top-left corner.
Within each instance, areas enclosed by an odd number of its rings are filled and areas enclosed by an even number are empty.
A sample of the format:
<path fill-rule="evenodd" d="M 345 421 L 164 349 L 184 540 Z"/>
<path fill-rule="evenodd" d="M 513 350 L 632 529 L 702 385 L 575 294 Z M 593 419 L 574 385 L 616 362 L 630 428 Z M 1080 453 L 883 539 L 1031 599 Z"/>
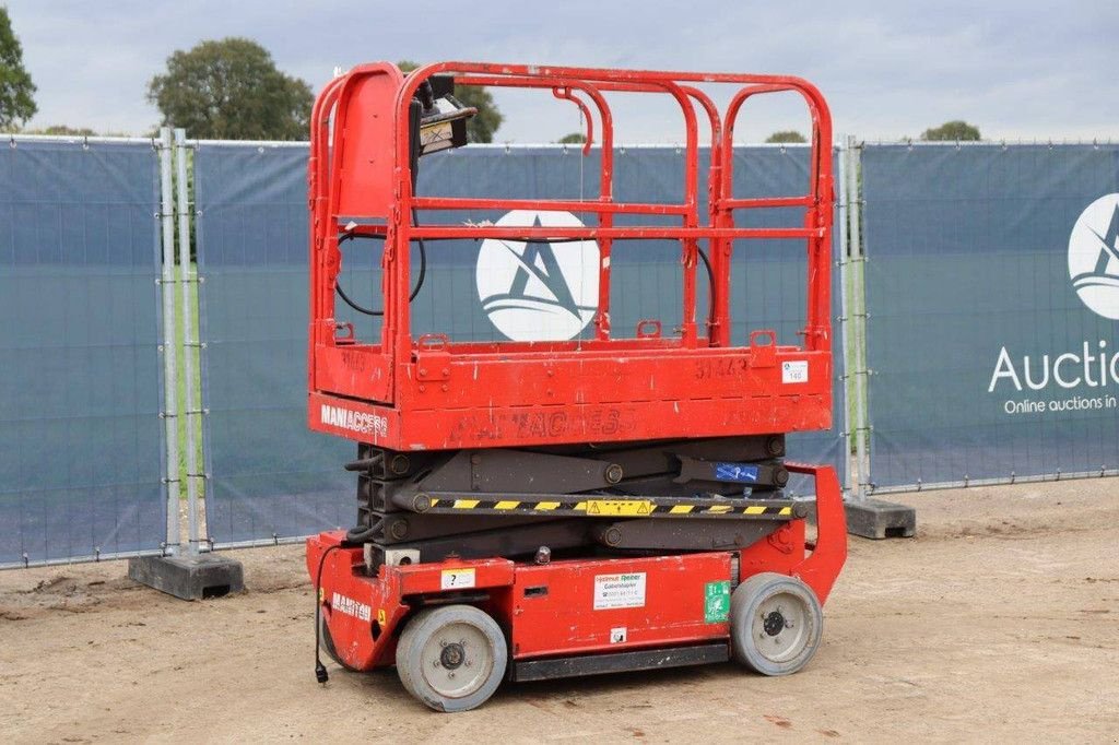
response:
<path fill-rule="evenodd" d="M 527 496 L 526 496 L 527 497 Z M 746 517 L 791 519 L 796 513 L 790 500 L 715 500 L 702 498 L 653 497 L 647 499 L 568 498 L 473 499 L 459 494 L 431 494 L 424 512 L 546 513 L 580 517 Z"/>

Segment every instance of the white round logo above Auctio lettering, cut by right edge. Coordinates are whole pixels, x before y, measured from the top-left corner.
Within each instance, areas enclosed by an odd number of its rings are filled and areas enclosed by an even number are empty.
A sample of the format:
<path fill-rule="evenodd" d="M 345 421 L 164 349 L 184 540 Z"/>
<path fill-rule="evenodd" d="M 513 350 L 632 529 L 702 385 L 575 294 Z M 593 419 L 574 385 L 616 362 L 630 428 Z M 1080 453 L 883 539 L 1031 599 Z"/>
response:
<path fill-rule="evenodd" d="M 1119 320 L 1119 194 L 1090 204 L 1069 236 L 1069 276 L 1092 311 Z"/>

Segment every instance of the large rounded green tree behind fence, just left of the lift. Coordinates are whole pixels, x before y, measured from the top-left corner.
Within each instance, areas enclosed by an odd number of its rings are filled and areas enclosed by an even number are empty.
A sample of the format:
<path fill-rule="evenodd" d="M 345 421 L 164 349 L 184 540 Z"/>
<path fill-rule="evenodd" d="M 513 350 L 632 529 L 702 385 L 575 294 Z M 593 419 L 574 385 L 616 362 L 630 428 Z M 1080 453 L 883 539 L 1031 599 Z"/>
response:
<path fill-rule="evenodd" d="M 252 39 L 201 41 L 167 58 L 167 73 L 148 84 L 162 123 L 195 138 L 302 140 L 311 117 L 311 86 L 280 72 Z"/>

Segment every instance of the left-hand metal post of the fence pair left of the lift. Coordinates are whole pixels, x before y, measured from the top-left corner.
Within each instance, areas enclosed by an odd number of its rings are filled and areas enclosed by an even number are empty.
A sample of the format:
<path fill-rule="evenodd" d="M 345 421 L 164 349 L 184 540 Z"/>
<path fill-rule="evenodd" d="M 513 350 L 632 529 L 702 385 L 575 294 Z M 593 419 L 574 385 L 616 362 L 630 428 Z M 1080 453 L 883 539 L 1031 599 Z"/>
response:
<path fill-rule="evenodd" d="M 160 221 L 163 228 L 163 428 L 167 438 L 167 554 L 179 553 L 178 376 L 175 366 L 175 204 L 171 181 L 171 129 L 159 131 Z"/>

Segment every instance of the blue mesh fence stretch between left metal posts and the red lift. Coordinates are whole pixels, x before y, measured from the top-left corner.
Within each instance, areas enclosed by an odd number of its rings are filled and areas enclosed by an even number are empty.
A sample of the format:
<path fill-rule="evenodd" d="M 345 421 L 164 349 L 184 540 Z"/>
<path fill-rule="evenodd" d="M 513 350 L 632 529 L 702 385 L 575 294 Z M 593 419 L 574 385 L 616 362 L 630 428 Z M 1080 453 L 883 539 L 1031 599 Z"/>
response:
<path fill-rule="evenodd" d="M 356 446 L 307 428 L 307 148 L 200 144 L 195 194 L 209 538 L 348 526 Z"/>

